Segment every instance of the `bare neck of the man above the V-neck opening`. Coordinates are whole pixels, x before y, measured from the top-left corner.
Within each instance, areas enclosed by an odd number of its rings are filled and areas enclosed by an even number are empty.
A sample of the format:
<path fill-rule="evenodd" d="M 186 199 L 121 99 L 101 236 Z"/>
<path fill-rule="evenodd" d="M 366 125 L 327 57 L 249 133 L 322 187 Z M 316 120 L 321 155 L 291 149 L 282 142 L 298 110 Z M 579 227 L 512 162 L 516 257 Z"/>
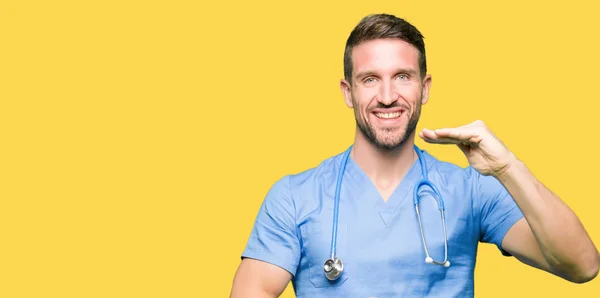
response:
<path fill-rule="evenodd" d="M 357 131 L 350 157 L 376 185 L 396 185 L 418 159 L 413 132 L 393 150 L 378 148 Z"/>

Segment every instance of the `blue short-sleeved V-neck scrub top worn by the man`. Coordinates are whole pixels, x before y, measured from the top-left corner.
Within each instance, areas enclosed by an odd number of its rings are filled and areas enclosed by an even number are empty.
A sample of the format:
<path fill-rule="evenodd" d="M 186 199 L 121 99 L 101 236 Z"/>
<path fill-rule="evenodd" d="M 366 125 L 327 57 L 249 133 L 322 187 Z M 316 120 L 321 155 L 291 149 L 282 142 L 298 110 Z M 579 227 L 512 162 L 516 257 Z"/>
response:
<path fill-rule="evenodd" d="M 349 158 L 342 181 L 336 253 L 344 262 L 344 272 L 335 281 L 325 277 L 323 264 L 331 255 L 336 176 L 343 153 L 272 186 L 242 258 L 289 271 L 297 297 L 473 297 L 478 243 L 495 244 L 508 255 L 501 248 L 502 239 L 523 214 L 496 178 L 422 152 L 429 180 L 445 203 L 450 267 L 425 263 L 413 204 L 420 162 L 412 165 L 384 202 L 369 177 Z M 443 261 L 437 202 L 428 187 L 421 187 L 420 197 L 429 254 Z"/>

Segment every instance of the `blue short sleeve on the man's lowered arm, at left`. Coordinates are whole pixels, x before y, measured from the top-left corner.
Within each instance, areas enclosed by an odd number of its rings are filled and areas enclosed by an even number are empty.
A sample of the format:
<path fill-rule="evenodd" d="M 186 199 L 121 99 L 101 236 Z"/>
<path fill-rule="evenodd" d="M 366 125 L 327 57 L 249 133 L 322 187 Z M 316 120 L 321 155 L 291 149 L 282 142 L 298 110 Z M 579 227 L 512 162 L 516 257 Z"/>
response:
<path fill-rule="evenodd" d="M 289 176 L 286 176 L 271 187 L 263 200 L 242 258 L 261 260 L 295 275 L 300 261 L 295 218 Z"/>

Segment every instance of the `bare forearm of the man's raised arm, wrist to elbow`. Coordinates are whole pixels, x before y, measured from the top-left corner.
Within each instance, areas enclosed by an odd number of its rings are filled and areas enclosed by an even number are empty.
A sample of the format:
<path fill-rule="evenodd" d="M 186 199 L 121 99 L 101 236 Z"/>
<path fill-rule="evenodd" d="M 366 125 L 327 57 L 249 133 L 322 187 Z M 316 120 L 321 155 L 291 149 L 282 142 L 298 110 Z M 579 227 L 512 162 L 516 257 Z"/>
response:
<path fill-rule="evenodd" d="M 600 255 L 575 213 L 516 161 L 496 178 L 523 212 L 551 270 L 571 280 L 597 274 Z"/>

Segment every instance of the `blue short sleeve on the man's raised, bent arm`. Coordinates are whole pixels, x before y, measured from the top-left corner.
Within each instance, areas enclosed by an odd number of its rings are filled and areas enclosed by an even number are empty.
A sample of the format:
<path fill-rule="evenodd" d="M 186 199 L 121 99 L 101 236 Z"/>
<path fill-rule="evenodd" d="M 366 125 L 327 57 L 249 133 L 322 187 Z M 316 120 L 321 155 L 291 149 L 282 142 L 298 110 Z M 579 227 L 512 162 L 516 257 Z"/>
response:
<path fill-rule="evenodd" d="M 475 170 L 473 170 L 475 171 Z M 523 213 L 504 185 L 493 176 L 475 173 L 476 198 L 479 203 L 480 241 L 498 247 L 504 256 L 510 254 L 502 249 L 502 240 L 508 230 Z"/>

